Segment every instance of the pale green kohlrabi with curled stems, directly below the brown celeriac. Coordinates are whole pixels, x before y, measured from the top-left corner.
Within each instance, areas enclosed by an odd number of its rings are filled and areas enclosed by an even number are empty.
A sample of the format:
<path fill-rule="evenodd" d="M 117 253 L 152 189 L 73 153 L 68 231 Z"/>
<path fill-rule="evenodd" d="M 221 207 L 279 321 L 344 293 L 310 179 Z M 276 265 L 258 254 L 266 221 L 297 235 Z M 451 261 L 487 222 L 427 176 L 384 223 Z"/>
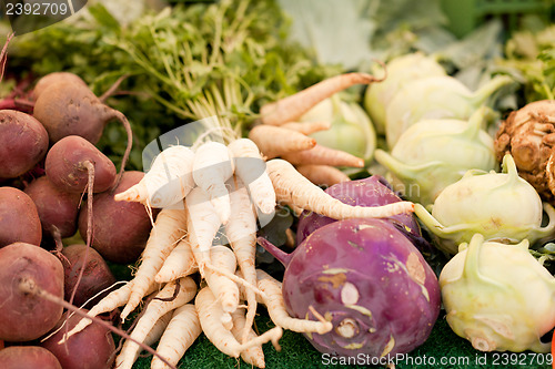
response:
<path fill-rule="evenodd" d="M 543 211 L 549 217 L 544 227 Z M 451 254 L 476 233 L 488 240 L 518 243 L 526 238 L 534 243 L 555 230 L 555 209 L 542 204 L 534 187 L 518 176 L 508 154 L 503 158 L 503 173 L 468 171 L 442 191 L 432 214 L 422 205 L 416 205 L 415 213 L 438 237 L 438 247 Z"/>

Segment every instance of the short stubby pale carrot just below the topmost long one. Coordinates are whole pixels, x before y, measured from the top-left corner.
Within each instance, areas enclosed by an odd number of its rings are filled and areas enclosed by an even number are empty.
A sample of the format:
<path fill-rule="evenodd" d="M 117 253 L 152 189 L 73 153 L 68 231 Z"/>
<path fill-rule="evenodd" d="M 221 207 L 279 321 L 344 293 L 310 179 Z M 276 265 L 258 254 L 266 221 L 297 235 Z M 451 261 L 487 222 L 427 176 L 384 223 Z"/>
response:
<path fill-rule="evenodd" d="M 249 131 L 249 139 L 259 146 L 265 160 L 316 145 L 316 140 L 300 132 L 265 124 L 252 127 Z"/>

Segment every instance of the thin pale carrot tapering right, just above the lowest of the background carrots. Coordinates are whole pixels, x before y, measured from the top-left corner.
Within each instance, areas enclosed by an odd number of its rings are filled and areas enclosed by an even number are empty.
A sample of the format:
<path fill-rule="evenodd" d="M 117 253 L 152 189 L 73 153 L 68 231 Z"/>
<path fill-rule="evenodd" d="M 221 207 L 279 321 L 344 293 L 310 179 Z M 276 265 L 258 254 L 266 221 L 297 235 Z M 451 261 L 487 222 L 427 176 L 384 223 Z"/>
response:
<path fill-rule="evenodd" d="M 281 155 L 281 158 L 294 165 L 316 164 L 332 166 L 363 167 L 364 160 L 351 155 L 347 152 L 316 144 L 310 150 L 297 151 Z"/>

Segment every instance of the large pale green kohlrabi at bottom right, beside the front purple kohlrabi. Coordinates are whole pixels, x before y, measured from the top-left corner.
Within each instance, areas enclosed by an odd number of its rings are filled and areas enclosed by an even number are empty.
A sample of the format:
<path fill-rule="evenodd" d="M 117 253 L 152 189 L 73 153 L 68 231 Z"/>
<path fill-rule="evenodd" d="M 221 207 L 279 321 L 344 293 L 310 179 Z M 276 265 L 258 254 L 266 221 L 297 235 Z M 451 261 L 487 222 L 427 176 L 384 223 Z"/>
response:
<path fill-rule="evenodd" d="M 539 339 L 555 326 L 555 278 L 517 245 L 476 234 L 442 269 L 446 319 L 481 351 L 548 352 Z"/>

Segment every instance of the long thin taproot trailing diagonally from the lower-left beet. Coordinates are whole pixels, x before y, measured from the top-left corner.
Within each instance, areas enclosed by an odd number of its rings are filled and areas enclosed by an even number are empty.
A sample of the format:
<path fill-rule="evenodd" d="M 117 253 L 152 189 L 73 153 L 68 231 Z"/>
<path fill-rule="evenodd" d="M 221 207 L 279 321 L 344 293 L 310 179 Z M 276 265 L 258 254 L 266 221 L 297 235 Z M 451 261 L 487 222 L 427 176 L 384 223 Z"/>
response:
<path fill-rule="evenodd" d="M 19 281 L 19 288 L 21 289 L 21 291 L 23 291 L 26 294 L 32 294 L 32 295 L 39 296 L 46 300 L 49 300 L 51 303 L 59 304 L 62 307 L 64 307 L 65 309 L 73 311 L 83 318 L 91 319 L 93 322 L 99 324 L 100 326 L 107 328 L 108 330 L 112 331 L 113 334 L 115 334 L 124 339 L 129 339 L 129 340 L 133 341 L 134 344 L 139 345 L 143 350 L 147 350 L 150 353 L 157 356 L 160 360 L 162 360 L 170 368 L 176 369 L 173 365 L 168 362 L 168 360 L 165 360 L 165 358 L 163 358 L 161 355 L 159 355 L 152 347 L 144 345 L 143 342 L 138 341 L 137 339 L 134 339 L 131 336 L 129 336 L 128 334 L 125 334 L 123 330 L 113 327 L 111 324 L 100 319 L 99 317 L 90 317 L 89 315 L 87 315 L 87 312 L 82 311 L 78 307 L 75 307 L 75 306 L 71 305 L 70 303 L 63 300 L 62 298 L 59 298 L 59 297 L 50 294 L 49 291 L 40 288 L 39 286 L 37 286 L 37 284 L 34 283 L 33 279 L 21 278 Z"/>

